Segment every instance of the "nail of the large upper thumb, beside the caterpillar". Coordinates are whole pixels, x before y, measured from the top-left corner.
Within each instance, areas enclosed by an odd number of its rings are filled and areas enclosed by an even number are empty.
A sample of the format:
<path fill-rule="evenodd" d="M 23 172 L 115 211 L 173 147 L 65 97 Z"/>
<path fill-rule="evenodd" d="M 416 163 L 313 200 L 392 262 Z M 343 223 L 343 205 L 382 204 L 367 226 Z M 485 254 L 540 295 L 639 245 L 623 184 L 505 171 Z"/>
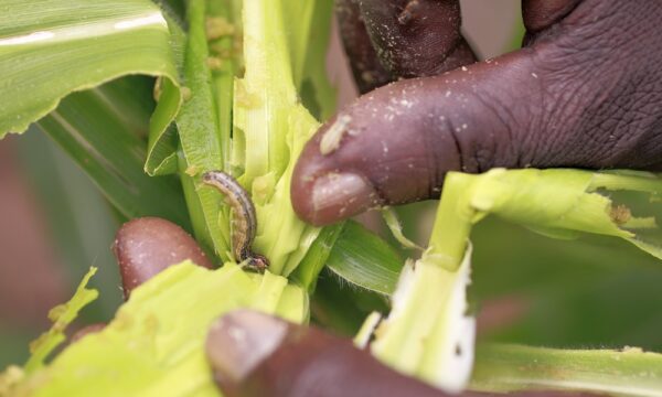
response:
<path fill-rule="evenodd" d="M 314 224 L 345 218 L 380 204 L 378 196 L 366 180 L 355 173 L 331 173 L 320 176 L 312 187 Z"/>

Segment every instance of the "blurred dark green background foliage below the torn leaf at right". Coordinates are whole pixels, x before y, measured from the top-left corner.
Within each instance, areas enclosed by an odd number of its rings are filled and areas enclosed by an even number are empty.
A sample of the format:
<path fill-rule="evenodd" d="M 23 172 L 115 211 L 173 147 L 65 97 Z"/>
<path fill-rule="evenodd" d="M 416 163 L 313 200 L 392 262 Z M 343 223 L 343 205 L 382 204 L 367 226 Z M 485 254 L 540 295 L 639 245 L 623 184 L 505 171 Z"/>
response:
<path fill-rule="evenodd" d="M 478 226 L 473 243 L 479 301 L 514 297 L 526 307 L 522 319 L 489 339 L 662 350 L 662 266 L 655 258 L 613 238 L 554 240 L 498 219 Z"/>

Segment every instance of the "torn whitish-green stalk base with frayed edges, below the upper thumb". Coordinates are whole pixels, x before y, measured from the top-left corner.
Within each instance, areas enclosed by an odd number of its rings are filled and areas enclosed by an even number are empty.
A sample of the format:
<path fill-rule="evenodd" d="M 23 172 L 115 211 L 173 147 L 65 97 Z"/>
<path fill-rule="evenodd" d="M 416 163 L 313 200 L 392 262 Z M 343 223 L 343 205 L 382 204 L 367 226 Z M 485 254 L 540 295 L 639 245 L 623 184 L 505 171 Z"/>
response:
<path fill-rule="evenodd" d="M 476 320 L 467 315 L 471 251 L 457 271 L 426 256 L 408 261 L 393 309 L 370 348 L 378 360 L 449 393 L 461 391 L 473 364 Z"/>

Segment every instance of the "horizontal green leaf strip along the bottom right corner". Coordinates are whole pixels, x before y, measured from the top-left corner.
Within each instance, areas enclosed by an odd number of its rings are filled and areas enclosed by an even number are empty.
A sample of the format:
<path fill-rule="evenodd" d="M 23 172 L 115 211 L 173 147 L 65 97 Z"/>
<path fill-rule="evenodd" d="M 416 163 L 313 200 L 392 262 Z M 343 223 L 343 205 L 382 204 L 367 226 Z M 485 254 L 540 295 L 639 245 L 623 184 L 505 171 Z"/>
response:
<path fill-rule="evenodd" d="M 662 354 L 637 347 L 606 351 L 479 344 L 470 388 L 490 393 L 557 389 L 659 396 Z"/>

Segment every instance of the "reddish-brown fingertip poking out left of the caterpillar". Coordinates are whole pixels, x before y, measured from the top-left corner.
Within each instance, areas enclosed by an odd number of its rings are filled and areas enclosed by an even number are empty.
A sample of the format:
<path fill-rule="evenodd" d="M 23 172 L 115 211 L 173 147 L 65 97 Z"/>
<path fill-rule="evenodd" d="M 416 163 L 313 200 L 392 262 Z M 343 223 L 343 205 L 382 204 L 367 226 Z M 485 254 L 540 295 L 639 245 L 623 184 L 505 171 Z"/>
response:
<path fill-rule="evenodd" d="M 185 259 L 213 267 L 193 237 L 178 225 L 157 217 L 124 224 L 115 237 L 113 253 L 119 264 L 125 298 L 161 270 Z"/>

